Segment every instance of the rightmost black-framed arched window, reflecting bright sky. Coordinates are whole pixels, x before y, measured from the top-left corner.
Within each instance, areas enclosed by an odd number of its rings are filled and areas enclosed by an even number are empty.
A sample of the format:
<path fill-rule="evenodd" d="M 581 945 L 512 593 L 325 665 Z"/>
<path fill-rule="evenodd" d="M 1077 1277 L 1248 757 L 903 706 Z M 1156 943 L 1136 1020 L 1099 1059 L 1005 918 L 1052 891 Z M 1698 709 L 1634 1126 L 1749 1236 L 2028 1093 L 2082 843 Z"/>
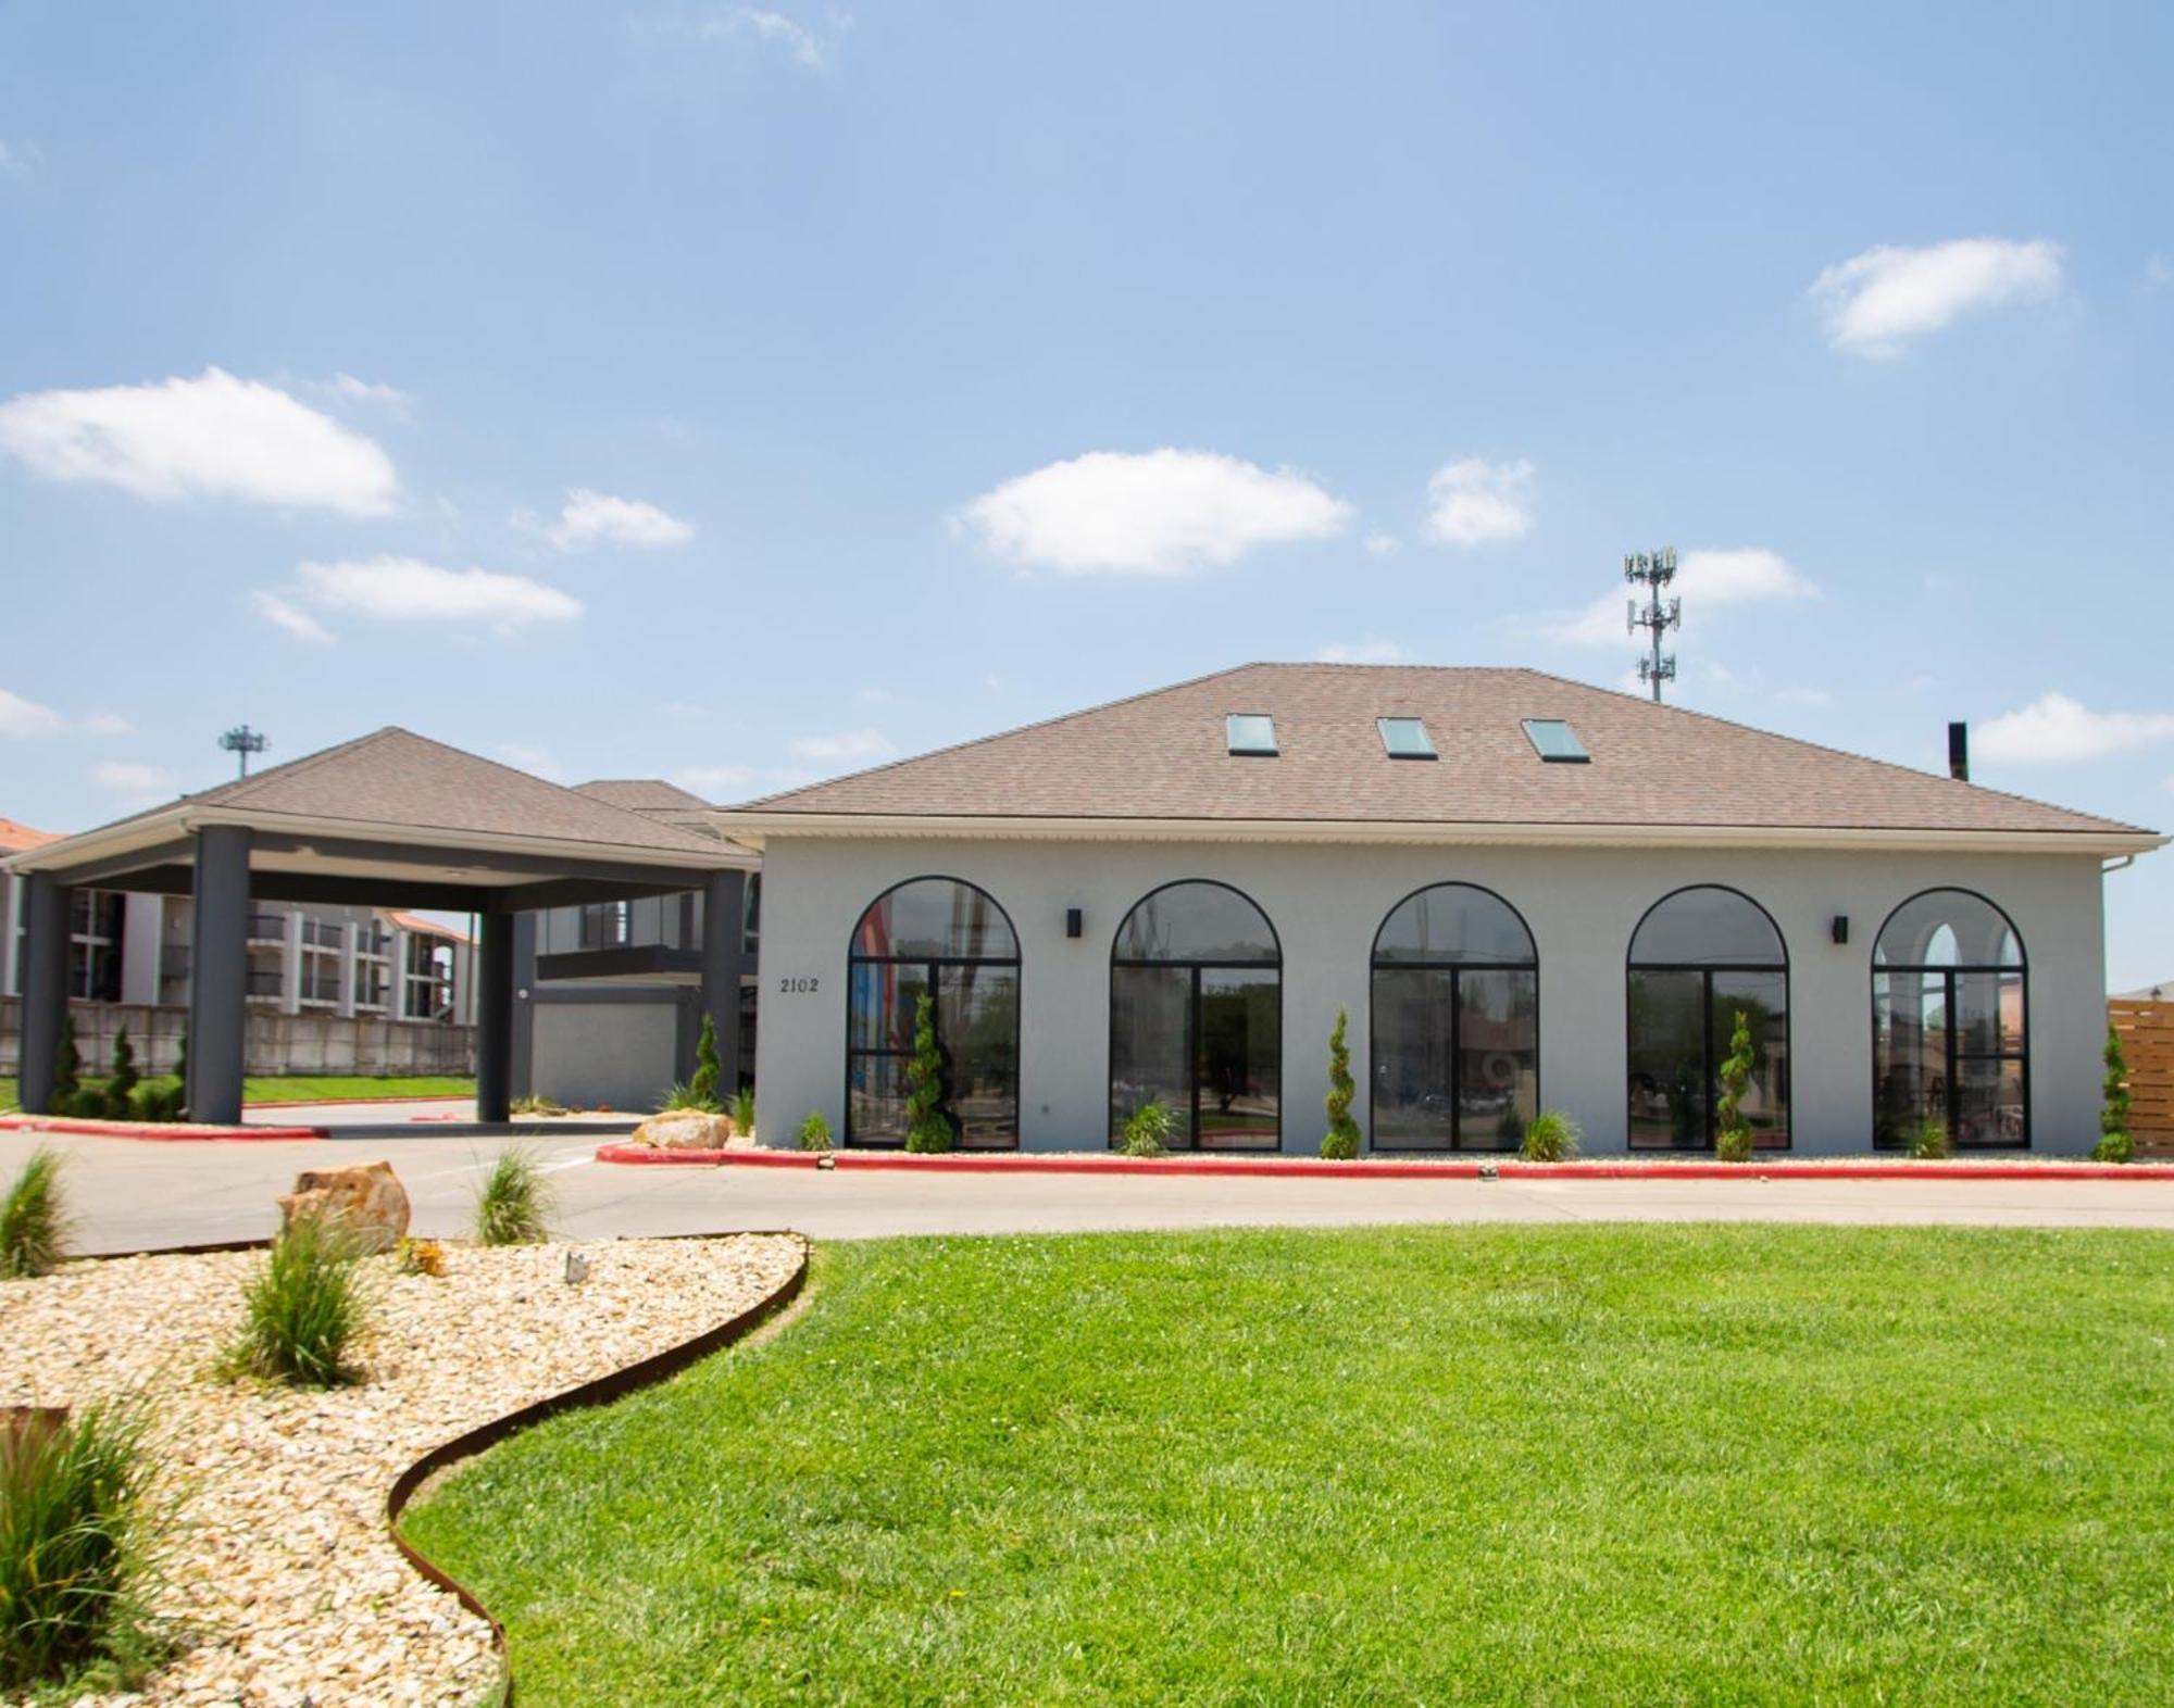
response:
<path fill-rule="evenodd" d="M 1967 1147 L 2031 1143 L 2024 945 L 1967 889 L 1928 889 L 1872 945 L 1872 1136 L 1909 1145 L 1926 1121 Z"/>

